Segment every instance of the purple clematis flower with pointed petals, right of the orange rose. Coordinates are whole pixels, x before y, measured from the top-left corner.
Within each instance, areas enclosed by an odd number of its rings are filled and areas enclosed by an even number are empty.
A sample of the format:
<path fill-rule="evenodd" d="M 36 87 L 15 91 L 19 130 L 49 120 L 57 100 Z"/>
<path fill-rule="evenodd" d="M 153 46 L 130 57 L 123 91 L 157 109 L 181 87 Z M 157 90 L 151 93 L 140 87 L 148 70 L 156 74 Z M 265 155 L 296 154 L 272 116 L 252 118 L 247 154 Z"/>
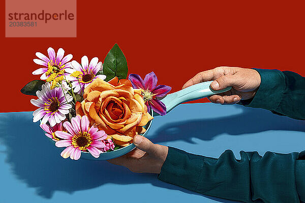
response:
<path fill-rule="evenodd" d="M 171 90 L 171 87 L 166 85 L 157 86 L 158 79 L 154 72 L 147 74 L 144 81 L 137 74 L 130 74 L 129 80 L 133 88 L 143 90 L 142 95 L 148 112 L 151 108 L 161 116 L 166 115 L 165 105 L 156 96 L 165 96 Z"/>

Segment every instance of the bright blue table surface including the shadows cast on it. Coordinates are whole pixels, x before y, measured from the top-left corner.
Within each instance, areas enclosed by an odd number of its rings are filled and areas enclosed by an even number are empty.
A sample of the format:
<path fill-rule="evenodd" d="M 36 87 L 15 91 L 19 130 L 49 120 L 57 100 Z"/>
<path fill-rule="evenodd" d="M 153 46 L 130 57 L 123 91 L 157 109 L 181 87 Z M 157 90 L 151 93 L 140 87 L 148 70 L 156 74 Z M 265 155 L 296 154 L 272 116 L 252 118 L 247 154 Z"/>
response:
<path fill-rule="evenodd" d="M 32 112 L 0 114 L 0 202 L 235 202 L 135 174 L 107 161 L 70 160 L 48 141 Z M 179 105 L 156 117 L 154 143 L 210 157 L 231 149 L 279 153 L 304 150 L 305 122 L 239 105 Z"/>

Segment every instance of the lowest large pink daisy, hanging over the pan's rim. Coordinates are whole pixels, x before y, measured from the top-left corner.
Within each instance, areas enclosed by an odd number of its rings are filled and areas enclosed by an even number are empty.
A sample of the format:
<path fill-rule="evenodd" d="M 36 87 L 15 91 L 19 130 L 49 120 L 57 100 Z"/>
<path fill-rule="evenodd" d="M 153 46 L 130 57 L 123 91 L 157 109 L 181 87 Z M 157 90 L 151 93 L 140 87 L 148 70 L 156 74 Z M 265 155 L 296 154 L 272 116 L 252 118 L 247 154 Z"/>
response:
<path fill-rule="evenodd" d="M 68 132 L 56 131 L 55 135 L 59 140 L 55 143 L 56 147 L 67 147 L 60 156 L 71 159 L 79 159 L 81 152 L 88 151 L 92 156 L 98 158 L 101 151 L 97 148 L 104 148 L 105 144 L 101 142 L 107 138 L 104 130 L 99 130 L 96 125 L 89 128 L 89 119 L 87 116 L 76 116 L 69 121 L 64 122 L 64 127 Z"/>

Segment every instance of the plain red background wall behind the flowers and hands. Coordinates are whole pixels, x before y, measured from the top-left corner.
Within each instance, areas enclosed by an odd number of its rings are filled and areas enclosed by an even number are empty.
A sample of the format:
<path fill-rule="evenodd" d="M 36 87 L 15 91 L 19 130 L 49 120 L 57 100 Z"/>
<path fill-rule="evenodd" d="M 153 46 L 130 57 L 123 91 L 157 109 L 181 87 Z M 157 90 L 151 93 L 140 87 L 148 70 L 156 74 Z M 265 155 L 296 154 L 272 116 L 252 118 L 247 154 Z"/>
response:
<path fill-rule="evenodd" d="M 305 75 L 304 5 L 270 1 L 77 1 L 77 38 L 5 38 L 2 1 L 0 112 L 34 111 L 20 89 L 39 68 L 35 52 L 62 47 L 101 61 L 118 43 L 129 73 L 154 71 L 172 92 L 216 66 L 291 70 Z M 301 1 L 300 1 L 301 2 Z M 56 30 L 50 27 L 50 31 Z M 207 101 L 207 100 L 201 100 Z"/>

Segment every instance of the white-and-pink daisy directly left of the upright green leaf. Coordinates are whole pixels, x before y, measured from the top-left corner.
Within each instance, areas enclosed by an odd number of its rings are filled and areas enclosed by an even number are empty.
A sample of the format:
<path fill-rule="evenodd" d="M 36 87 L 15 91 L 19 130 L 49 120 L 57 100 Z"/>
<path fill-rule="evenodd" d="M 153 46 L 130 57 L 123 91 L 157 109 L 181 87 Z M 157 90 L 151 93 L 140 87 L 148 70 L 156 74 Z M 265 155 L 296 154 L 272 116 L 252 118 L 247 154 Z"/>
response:
<path fill-rule="evenodd" d="M 66 72 L 72 74 L 69 77 L 69 80 L 72 83 L 72 88 L 74 92 L 81 94 L 90 83 L 92 83 L 97 78 L 102 80 L 106 79 L 105 75 L 97 75 L 96 74 L 103 70 L 102 62 L 99 62 L 98 57 L 94 57 L 91 59 L 90 63 L 87 56 L 83 56 L 81 58 L 81 65 L 73 60 L 71 62 L 71 69 L 66 69 Z M 75 73 L 76 72 L 76 73 Z M 74 73 L 74 74 L 73 74 Z"/>

